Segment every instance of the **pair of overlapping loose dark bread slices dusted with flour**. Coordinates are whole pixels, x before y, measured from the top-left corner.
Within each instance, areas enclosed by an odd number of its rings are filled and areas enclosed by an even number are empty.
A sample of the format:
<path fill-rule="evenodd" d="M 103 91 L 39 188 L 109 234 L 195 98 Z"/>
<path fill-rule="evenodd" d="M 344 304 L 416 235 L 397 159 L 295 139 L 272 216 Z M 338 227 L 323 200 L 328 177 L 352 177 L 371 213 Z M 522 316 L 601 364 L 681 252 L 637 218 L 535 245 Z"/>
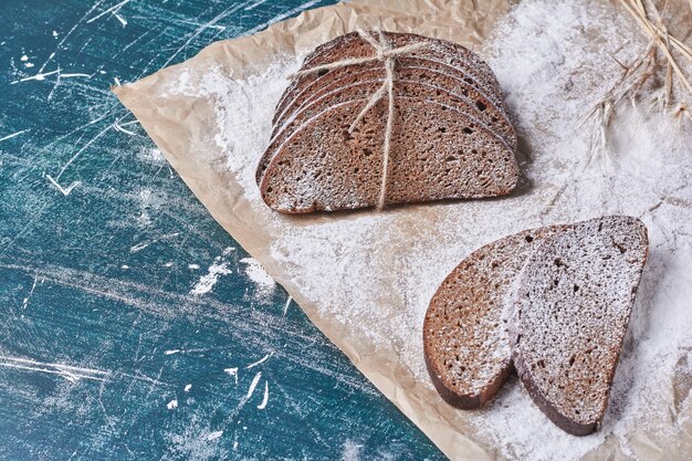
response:
<path fill-rule="evenodd" d="M 647 254 L 644 224 L 621 216 L 532 229 L 471 253 L 426 314 L 436 388 L 455 407 L 479 408 L 514 368 L 558 427 L 595 431 Z"/>

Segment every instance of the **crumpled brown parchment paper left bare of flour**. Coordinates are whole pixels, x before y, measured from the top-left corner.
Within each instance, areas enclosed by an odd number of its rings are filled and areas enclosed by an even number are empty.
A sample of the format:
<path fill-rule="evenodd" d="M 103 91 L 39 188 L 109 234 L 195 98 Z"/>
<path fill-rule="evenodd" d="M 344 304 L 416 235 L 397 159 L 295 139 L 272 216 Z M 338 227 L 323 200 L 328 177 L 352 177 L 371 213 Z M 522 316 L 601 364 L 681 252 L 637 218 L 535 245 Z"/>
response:
<path fill-rule="evenodd" d="M 413 378 L 411 370 L 400 365 L 401 357 L 394 345 L 384 346 L 364 339 L 353 328 L 323 315 L 301 286 L 290 276 L 286 265 L 272 255 L 272 244 L 286 229 L 306 228 L 317 222 L 354 219 L 352 214 L 310 216 L 300 219 L 280 217 L 282 227 L 269 226 L 265 214 L 253 210 L 238 178 L 223 167 L 222 155 L 217 158 L 193 155 L 202 139 L 212 138 L 216 116 L 212 105 L 193 97 L 161 98 L 159 88 L 176 81 L 180 69 L 203 70 L 221 66 L 227 75 L 244 78 L 262 72 L 272 63 L 310 50 L 356 28 L 381 27 L 389 31 L 416 32 L 452 40 L 468 46 L 483 42 L 496 20 L 508 9 L 500 0 L 365 0 L 348 4 L 319 8 L 300 17 L 275 23 L 252 36 L 217 42 L 182 64 L 164 69 L 138 82 L 115 87 L 114 91 L 141 123 L 170 165 L 205 205 L 213 218 L 281 283 L 317 327 L 349 357 L 354 365 L 399 409 L 410 418 L 450 459 L 490 460 L 501 458 L 499 447 L 489 446 L 476 437 L 475 429 L 460 412 L 445 405 L 429 383 Z M 412 14 L 411 12 L 415 12 Z M 424 240 L 427 226 L 434 226 L 440 213 L 436 207 L 415 206 L 388 211 L 401 227 L 410 229 L 411 241 Z M 365 212 L 368 213 L 368 212 Z M 517 210 L 518 217 L 522 211 Z M 355 216 L 363 216 L 356 213 Z M 274 219 L 276 219 L 274 217 Z M 470 214 L 469 219 L 473 219 Z M 517 218 L 518 219 L 518 218 Z M 426 224 L 427 223 L 427 224 Z M 497 235 L 508 229 L 497 229 Z M 470 242 L 475 248 L 485 242 Z M 368 244 L 377 245 L 378 242 Z M 412 250 L 410 241 L 394 243 L 392 254 Z M 451 256 L 459 261 L 463 256 Z M 453 268 L 452 264 L 449 269 Z M 441 279 L 440 279 L 441 280 Z M 396 283 L 390 293 L 382 294 L 382 305 L 396 310 Z M 344 308 L 348 308 L 345 300 Z M 413 342 L 421 342 L 419 337 Z M 421 345 L 422 349 L 422 345 Z M 521 421 L 517 421 L 521 423 Z M 686 430 L 692 433 L 692 429 Z M 671 447 L 648 439 L 646 433 L 633 437 L 632 446 L 641 447 L 641 459 L 683 459 L 680 450 L 692 450 L 689 439 Z M 629 459 L 617 441 L 606 441 L 588 455 L 590 459 Z"/>

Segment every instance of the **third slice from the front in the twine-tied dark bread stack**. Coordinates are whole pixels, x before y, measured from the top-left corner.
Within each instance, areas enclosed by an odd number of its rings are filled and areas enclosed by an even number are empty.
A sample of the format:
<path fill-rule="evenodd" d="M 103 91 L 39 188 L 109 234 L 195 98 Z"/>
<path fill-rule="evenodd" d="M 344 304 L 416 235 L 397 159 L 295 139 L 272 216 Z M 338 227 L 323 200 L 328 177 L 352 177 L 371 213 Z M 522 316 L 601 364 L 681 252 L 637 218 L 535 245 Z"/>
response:
<path fill-rule="evenodd" d="M 272 136 L 275 136 L 283 128 L 284 123 L 290 119 L 291 115 L 298 113 L 302 108 L 310 105 L 311 102 L 318 99 L 324 95 L 331 93 L 333 94 L 340 87 L 348 87 L 359 82 L 380 80 L 384 77 L 385 70 L 380 65 L 376 69 L 364 71 L 358 75 L 348 75 L 343 78 L 336 78 L 328 84 L 325 82 L 319 90 L 315 88 L 310 96 L 302 98 L 303 102 L 301 106 L 294 107 L 293 105 L 290 105 L 286 107 L 285 115 L 276 121 Z M 510 147 L 516 149 L 516 135 L 506 114 L 503 111 L 497 109 L 484 95 L 475 91 L 463 80 L 457 78 L 455 76 L 439 70 L 408 65 L 397 67 L 395 70 L 395 78 L 397 81 L 421 82 L 452 93 L 455 97 L 468 104 L 471 115 L 483 122 L 489 128 L 493 129 L 499 135 L 503 136 Z"/>

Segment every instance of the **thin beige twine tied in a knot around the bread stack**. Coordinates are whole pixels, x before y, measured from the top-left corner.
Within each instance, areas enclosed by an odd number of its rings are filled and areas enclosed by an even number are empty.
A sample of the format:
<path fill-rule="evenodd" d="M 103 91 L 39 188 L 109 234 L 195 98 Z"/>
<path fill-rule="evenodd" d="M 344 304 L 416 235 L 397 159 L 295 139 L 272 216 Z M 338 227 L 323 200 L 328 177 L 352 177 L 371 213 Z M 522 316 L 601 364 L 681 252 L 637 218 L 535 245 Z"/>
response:
<path fill-rule="evenodd" d="M 382 178 L 379 191 L 379 198 L 377 200 L 377 209 L 381 210 L 385 207 L 385 199 L 387 197 L 387 175 L 389 170 L 389 148 L 391 143 L 391 129 L 394 126 L 394 66 L 395 59 L 401 54 L 410 53 L 419 50 L 428 44 L 424 42 L 413 43 L 406 46 L 392 49 L 381 30 L 376 29 L 379 38 L 379 42 L 376 41 L 369 33 L 358 30 L 358 35 L 373 46 L 375 55 L 369 57 L 352 57 L 348 60 L 336 61 L 324 65 L 317 65 L 315 67 L 298 71 L 290 76 L 290 78 L 296 78 L 303 75 L 314 74 L 321 71 L 329 71 L 333 69 L 347 67 L 349 65 L 365 64 L 373 61 L 381 61 L 385 64 L 386 76 L 382 85 L 370 96 L 367 104 L 363 107 L 358 116 L 348 127 L 348 134 L 353 134 L 356 126 L 363 119 L 365 114 L 368 113 L 385 95 L 389 98 L 389 109 L 387 113 L 387 127 L 385 128 L 385 143 L 382 147 Z"/>

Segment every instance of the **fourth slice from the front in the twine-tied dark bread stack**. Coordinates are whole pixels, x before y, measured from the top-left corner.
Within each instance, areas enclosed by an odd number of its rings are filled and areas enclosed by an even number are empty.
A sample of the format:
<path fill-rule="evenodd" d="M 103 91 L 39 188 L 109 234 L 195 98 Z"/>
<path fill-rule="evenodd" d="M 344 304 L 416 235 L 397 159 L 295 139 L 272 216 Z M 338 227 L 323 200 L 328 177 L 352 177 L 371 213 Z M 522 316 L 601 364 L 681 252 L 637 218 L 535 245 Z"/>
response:
<path fill-rule="evenodd" d="M 481 88 L 478 87 L 478 85 L 470 84 L 468 82 L 468 75 L 454 66 L 429 59 L 409 56 L 397 57 L 395 73 L 399 74 L 406 67 L 430 69 L 453 77 L 455 81 L 464 83 L 464 87 L 469 88 L 469 91 L 473 93 L 472 97 L 479 97 L 480 104 L 485 106 L 491 105 L 495 107 L 495 111 L 500 111 L 505 118 L 507 117 L 504 112 L 504 105 L 495 106 L 497 95 L 486 95 Z M 366 74 L 381 74 L 384 77 L 385 69 L 382 63 L 380 61 L 374 61 L 365 64 L 349 65 L 346 67 L 331 70 L 322 75 L 316 75 L 315 78 L 308 84 L 300 91 L 296 88 L 292 96 L 286 97 L 281 104 L 277 105 L 272 123 L 275 127 L 281 126 L 281 119 L 290 117 L 295 107 L 304 105 L 307 101 L 315 97 L 315 94 L 324 93 L 326 87 L 336 87 L 336 82 L 346 85 L 359 80 L 365 80 Z M 459 83 L 454 83 L 454 86 L 459 86 Z"/>

